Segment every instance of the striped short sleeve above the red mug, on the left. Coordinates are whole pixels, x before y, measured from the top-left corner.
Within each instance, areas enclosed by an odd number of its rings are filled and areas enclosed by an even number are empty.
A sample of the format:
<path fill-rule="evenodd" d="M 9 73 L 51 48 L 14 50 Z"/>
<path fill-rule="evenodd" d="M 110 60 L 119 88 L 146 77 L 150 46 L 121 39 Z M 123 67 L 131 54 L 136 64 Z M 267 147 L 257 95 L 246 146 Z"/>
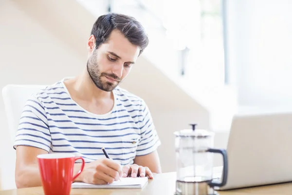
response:
<path fill-rule="evenodd" d="M 37 98 L 31 97 L 26 101 L 19 120 L 14 149 L 22 145 L 50 152 L 51 143 L 45 109 Z"/>

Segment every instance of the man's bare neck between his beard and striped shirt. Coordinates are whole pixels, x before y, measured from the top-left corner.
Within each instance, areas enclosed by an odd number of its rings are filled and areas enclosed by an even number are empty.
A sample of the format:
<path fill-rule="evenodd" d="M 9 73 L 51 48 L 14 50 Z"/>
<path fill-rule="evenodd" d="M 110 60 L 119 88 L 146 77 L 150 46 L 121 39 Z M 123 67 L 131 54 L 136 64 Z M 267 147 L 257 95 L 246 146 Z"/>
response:
<path fill-rule="evenodd" d="M 108 99 L 113 98 L 112 92 L 107 92 L 96 87 L 85 69 L 81 75 L 73 79 L 72 87 L 83 99 Z"/>

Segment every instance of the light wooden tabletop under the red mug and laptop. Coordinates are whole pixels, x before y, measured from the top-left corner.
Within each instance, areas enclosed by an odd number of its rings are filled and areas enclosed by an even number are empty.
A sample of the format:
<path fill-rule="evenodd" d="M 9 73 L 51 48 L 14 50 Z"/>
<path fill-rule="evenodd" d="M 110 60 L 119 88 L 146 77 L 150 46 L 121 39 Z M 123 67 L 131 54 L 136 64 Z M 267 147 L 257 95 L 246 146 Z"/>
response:
<path fill-rule="evenodd" d="M 71 195 L 173 195 L 176 173 L 157 174 L 143 189 L 72 189 Z M 219 195 L 292 195 L 292 183 L 238 190 L 218 191 Z M 0 191 L 0 195 L 44 195 L 42 187 Z"/>

